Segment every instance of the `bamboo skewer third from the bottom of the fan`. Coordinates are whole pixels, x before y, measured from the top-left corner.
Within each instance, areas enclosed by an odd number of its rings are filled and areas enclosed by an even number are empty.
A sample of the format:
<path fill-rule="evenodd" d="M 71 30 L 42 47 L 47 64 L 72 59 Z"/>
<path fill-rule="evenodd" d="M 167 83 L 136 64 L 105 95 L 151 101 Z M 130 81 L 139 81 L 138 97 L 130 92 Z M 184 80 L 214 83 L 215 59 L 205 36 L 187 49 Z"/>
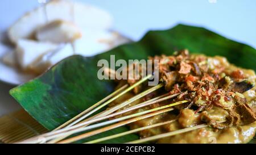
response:
<path fill-rule="evenodd" d="M 84 139 L 84 138 L 89 137 L 89 136 L 97 135 L 98 133 L 101 133 L 101 132 L 109 131 L 110 129 L 121 127 L 122 125 L 133 123 L 133 122 L 136 122 L 138 120 L 145 119 L 145 118 L 150 118 L 151 116 L 159 115 L 159 114 L 162 114 L 164 112 L 171 111 L 171 110 L 174 110 L 174 108 L 166 108 L 164 110 L 151 112 L 150 114 L 146 114 L 146 115 L 139 116 L 137 118 L 125 120 L 123 122 L 119 122 L 119 123 L 116 123 L 116 124 L 113 124 L 113 125 L 109 125 L 108 127 L 104 127 L 104 128 L 101 128 L 101 129 L 97 129 L 95 131 L 87 132 L 87 133 L 84 133 L 84 134 L 79 135 L 79 136 L 71 137 L 70 139 L 60 141 L 59 144 L 72 143 L 74 141 L 81 140 L 81 139 Z"/>

